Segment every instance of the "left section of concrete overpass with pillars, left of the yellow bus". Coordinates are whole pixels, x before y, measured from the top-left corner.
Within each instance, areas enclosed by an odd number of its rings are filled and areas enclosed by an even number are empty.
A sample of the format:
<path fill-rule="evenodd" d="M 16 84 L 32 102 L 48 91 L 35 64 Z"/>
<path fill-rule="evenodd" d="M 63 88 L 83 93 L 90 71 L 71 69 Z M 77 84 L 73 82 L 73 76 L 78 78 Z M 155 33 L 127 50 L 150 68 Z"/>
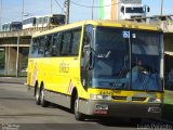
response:
<path fill-rule="evenodd" d="M 49 28 L 0 32 L 0 76 L 25 75 L 31 35 Z"/>

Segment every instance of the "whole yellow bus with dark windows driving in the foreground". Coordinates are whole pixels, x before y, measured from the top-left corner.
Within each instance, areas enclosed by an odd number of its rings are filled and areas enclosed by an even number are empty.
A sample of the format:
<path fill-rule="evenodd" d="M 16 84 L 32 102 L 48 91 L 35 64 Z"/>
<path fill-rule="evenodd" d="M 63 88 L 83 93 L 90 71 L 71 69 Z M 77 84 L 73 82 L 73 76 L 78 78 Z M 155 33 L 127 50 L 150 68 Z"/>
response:
<path fill-rule="evenodd" d="M 160 118 L 163 35 L 131 22 L 84 21 L 32 36 L 27 83 L 36 103 L 86 116 Z"/>

